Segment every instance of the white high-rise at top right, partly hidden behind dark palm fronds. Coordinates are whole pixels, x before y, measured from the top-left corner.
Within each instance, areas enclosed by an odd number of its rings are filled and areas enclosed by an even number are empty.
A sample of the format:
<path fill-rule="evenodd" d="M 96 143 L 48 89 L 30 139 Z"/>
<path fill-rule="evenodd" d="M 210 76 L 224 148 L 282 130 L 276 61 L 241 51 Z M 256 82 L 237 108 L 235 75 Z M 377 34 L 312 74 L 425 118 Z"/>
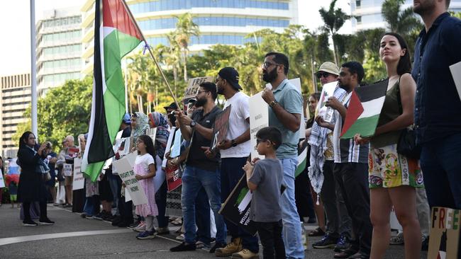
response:
<path fill-rule="evenodd" d="M 350 0 L 352 16 L 352 32 L 372 28 L 386 28 L 382 18 L 381 6 L 384 0 Z M 401 10 L 413 5 L 412 0 L 406 0 Z M 451 0 L 450 11 L 461 11 L 461 0 Z"/>

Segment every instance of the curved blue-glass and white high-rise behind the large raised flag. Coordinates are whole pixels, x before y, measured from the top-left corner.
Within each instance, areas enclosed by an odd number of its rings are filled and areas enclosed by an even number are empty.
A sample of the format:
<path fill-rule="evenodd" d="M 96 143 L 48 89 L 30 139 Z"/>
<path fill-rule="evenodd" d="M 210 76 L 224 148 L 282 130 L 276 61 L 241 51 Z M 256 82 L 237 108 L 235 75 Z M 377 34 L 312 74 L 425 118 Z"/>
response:
<path fill-rule="evenodd" d="M 241 45 L 245 35 L 270 28 L 282 32 L 298 23 L 298 0 L 128 0 L 130 10 L 149 45 L 168 45 L 165 35 L 176 27 L 182 13 L 191 13 L 199 25 L 199 37 L 191 38 L 189 50 L 196 52 L 215 44 Z M 84 74 L 93 68 L 94 0 L 87 0 L 83 13 Z"/>

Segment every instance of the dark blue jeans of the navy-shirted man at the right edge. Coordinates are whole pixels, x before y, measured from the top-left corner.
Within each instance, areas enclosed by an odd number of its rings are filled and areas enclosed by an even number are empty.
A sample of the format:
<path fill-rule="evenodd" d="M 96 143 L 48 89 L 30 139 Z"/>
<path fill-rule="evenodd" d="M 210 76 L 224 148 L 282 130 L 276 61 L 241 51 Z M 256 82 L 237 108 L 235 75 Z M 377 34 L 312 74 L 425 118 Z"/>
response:
<path fill-rule="evenodd" d="M 420 163 L 429 206 L 461 209 L 461 134 L 422 147 Z"/>

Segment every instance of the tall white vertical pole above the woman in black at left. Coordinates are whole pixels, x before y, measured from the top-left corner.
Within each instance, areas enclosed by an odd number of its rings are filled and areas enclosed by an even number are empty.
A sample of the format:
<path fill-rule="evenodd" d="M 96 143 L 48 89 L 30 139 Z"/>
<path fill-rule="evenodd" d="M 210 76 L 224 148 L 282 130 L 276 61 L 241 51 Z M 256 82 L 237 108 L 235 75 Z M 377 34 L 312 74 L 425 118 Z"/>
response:
<path fill-rule="evenodd" d="M 30 86 L 32 96 L 32 133 L 38 138 L 37 129 L 37 67 L 35 62 L 35 0 L 30 0 Z"/>

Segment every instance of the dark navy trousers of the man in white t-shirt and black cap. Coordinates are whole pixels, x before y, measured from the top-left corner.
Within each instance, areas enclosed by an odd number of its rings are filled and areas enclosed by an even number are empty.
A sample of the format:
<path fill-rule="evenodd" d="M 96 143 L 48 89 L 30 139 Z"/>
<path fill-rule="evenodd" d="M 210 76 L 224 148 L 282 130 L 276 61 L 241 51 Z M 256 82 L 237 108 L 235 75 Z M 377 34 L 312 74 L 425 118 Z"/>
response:
<path fill-rule="evenodd" d="M 226 202 L 227 197 L 232 192 L 235 185 L 245 174 L 243 166 L 247 161 L 247 157 L 226 158 L 221 159 L 221 202 Z M 226 220 L 226 226 L 232 238 L 242 238 L 242 246 L 253 253 L 260 251 L 260 246 L 257 243 L 257 236 L 252 236 L 245 231 L 241 226 L 235 225 Z"/>

